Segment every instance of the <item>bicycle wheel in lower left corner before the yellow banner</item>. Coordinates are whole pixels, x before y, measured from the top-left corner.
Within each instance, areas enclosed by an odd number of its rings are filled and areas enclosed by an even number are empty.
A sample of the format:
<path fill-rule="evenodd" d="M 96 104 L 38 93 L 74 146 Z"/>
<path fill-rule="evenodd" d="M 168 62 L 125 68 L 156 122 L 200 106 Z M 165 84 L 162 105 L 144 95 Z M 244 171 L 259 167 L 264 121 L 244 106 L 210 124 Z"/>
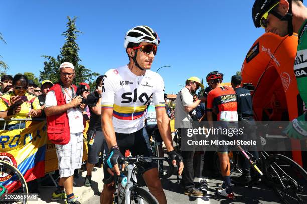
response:
<path fill-rule="evenodd" d="M 15 166 L 9 162 L 0 160 L 0 176 L 0 203 L 9 203 L 7 200 L 12 197 L 14 200 L 10 199 L 11 201 L 16 201 L 21 204 L 28 203 L 28 186 L 26 180 Z M 17 185 L 21 186 L 17 196 L 10 194 L 12 190 L 7 188 L 12 182 L 17 182 Z"/>

